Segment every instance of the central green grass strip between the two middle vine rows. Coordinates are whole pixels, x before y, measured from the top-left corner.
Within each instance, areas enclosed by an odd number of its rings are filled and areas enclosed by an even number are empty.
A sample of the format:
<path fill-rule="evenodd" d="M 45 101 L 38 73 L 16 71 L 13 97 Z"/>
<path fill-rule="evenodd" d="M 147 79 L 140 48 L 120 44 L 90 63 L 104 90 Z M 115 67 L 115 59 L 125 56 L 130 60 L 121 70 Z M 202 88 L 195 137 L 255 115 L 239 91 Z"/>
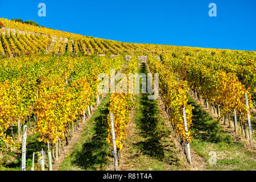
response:
<path fill-rule="evenodd" d="M 138 72 L 147 73 L 145 65 Z M 138 107 L 133 117 L 138 135 L 127 139 L 129 153 L 133 156 L 126 163 L 133 170 L 184 169 L 185 164 L 176 156 L 177 150 L 170 138 L 171 129 L 160 116 L 158 101 L 148 100 L 148 95 L 135 96 Z"/>

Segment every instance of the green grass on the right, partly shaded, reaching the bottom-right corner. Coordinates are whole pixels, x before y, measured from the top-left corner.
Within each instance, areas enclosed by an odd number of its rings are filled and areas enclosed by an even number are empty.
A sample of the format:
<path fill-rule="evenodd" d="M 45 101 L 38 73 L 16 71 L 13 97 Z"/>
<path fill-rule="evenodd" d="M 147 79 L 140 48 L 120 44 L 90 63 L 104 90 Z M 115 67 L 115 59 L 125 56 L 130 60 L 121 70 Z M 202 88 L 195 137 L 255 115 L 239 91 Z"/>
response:
<path fill-rule="evenodd" d="M 191 147 L 207 162 L 209 170 L 255 170 L 255 152 L 250 152 L 240 142 L 234 142 L 221 125 L 203 110 L 195 101 L 192 104 Z M 217 154 L 216 164 L 209 164 L 210 151 Z"/>

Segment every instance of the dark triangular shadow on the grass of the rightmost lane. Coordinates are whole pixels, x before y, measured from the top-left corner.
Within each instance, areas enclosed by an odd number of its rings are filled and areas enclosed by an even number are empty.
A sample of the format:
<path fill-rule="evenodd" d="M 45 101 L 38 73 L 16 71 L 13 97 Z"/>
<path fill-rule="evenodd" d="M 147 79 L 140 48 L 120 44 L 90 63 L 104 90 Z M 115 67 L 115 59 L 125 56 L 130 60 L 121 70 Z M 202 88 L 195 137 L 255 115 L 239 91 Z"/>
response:
<path fill-rule="evenodd" d="M 212 143 L 232 143 L 230 135 L 226 134 L 221 125 L 204 111 L 199 104 L 196 104 L 192 99 L 189 99 L 188 104 L 195 107 L 192 110 L 191 125 L 193 138 Z"/>

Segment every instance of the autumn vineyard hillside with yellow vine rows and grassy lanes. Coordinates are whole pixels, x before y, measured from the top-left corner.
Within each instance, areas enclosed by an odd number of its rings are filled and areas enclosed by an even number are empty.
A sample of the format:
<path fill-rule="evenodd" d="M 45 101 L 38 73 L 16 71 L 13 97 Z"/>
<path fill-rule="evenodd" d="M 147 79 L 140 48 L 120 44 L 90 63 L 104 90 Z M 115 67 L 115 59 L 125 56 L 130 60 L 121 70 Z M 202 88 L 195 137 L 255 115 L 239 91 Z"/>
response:
<path fill-rule="evenodd" d="M 256 169 L 254 51 L 0 22 L 0 170 Z"/>

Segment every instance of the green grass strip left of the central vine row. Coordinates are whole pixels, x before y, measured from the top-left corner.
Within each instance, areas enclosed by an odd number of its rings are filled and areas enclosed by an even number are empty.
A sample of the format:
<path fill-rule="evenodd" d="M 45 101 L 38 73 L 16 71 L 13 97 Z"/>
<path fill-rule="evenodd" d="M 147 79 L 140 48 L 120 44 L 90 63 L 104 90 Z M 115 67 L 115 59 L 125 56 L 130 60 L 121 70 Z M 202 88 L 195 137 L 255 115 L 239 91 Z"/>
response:
<path fill-rule="evenodd" d="M 108 136 L 106 116 L 109 113 L 109 94 L 98 106 L 93 117 L 86 123 L 84 132 L 72 148 L 71 155 L 61 163 L 60 170 L 104 170 L 108 167 L 111 148 L 106 142 Z"/>

